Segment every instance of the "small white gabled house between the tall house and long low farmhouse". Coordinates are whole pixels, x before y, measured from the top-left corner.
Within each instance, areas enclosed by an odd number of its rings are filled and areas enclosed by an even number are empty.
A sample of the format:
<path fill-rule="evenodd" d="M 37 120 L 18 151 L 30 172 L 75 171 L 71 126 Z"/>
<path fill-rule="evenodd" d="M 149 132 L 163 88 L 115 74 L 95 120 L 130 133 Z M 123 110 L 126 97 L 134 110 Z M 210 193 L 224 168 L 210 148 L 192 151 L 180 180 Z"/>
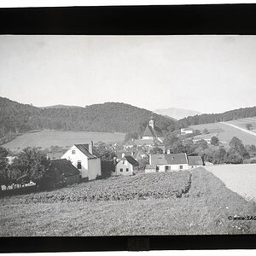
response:
<path fill-rule="evenodd" d="M 113 175 L 129 176 L 133 175 L 134 171 L 138 168 L 138 162 L 131 155 L 124 156 L 115 166 L 115 172 Z"/>

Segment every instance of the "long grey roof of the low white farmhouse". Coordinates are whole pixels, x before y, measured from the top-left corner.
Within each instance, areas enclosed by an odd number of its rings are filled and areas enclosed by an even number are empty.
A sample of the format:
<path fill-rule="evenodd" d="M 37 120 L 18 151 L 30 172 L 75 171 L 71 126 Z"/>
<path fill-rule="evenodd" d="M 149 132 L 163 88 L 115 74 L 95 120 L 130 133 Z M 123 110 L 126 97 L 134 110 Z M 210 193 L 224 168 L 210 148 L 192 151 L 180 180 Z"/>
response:
<path fill-rule="evenodd" d="M 178 154 L 151 154 L 151 165 L 182 165 L 188 164 L 185 153 Z"/>

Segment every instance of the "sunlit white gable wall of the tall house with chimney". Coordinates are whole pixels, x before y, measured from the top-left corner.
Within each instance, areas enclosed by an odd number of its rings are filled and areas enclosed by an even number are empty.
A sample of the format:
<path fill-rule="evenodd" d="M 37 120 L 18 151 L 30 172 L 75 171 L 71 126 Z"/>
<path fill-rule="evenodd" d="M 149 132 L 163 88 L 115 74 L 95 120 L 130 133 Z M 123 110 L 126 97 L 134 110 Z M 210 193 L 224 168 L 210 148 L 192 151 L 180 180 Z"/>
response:
<path fill-rule="evenodd" d="M 72 150 L 76 150 L 76 154 L 72 154 Z M 70 160 L 76 168 L 78 167 L 78 161 L 81 161 L 82 169 L 80 169 L 80 173 L 82 178 L 88 177 L 88 159 L 84 153 L 82 153 L 79 148 L 73 146 L 67 150 L 65 154 L 62 155 L 61 159 Z"/>

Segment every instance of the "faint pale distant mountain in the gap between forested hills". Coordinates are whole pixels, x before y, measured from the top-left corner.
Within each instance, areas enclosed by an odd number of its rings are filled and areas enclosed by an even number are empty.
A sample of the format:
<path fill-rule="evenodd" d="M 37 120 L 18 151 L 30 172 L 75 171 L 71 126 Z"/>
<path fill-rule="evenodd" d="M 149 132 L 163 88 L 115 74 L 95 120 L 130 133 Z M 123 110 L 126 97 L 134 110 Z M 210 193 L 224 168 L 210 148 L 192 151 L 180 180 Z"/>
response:
<path fill-rule="evenodd" d="M 196 114 L 201 114 L 198 111 L 195 110 L 189 110 L 189 109 L 182 109 L 182 108 L 165 108 L 165 109 L 156 109 L 154 110 L 155 113 L 159 113 L 162 115 L 169 116 L 173 119 L 183 119 L 188 116 L 194 116 Z"/>

